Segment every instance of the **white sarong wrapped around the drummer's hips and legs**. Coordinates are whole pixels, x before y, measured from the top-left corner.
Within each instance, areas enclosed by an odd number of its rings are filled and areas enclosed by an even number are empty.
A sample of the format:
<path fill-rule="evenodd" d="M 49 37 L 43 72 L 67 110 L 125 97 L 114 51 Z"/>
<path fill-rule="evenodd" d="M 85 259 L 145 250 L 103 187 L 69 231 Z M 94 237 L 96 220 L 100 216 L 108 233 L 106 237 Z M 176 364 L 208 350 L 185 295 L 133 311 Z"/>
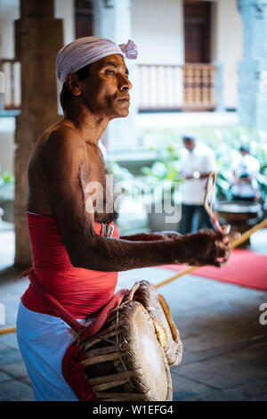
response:
<path fill-rule="evenodd" d="M 66 349 L 75 341 L 69 325 L 60 317 L 28 310 L 20 302 L 17 339 L 35 400 L 78 401 L 61 370 Z"/>

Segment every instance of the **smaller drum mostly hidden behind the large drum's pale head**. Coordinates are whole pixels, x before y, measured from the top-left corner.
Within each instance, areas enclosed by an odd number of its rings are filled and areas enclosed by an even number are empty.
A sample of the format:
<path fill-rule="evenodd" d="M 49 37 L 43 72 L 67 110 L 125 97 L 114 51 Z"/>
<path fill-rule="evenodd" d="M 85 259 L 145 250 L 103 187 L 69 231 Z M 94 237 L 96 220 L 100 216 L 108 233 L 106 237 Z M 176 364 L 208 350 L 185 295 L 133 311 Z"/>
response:
<path fill-rule="evenodd" d="M 136 286 L 134 300 L 141 302 L 150 316 L 157 319 L 166 330 L 165 354 L 168 364 L 178 366 L 182 361 L 182 341 L 165 298 L 158 294 L 157 288 L 152 283 L 147 281 L 141 281 L 134 286 Z"/>

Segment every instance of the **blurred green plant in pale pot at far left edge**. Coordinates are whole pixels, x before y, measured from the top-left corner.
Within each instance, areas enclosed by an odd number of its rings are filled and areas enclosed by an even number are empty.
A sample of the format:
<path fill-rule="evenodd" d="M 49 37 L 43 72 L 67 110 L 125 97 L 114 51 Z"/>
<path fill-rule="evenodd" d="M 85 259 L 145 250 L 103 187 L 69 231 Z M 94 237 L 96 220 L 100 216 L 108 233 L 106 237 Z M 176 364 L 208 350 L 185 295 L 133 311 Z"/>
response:
<path fill-rule="evenodd" d="M 3 209 L 3 221 L 13 223 L 15 179 L 11 173 L 5 171 L 0 175 L 0 208 Z"/>

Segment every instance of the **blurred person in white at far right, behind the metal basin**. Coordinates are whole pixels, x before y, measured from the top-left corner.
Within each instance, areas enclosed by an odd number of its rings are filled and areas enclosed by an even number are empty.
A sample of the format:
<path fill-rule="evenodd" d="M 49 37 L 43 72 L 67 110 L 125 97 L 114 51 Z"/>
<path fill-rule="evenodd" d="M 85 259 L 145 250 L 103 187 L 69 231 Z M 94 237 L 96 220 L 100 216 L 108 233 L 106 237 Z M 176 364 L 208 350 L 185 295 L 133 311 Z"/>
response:
<path fill-rule="evenodd" d="M 231 193 L 233 201 L 255 201 L 260 197 L 256 177 L 260 170 L 258 160 L 250 155 L 249 146 L 239 147 L 240 157 L 231 165 Z"/>

